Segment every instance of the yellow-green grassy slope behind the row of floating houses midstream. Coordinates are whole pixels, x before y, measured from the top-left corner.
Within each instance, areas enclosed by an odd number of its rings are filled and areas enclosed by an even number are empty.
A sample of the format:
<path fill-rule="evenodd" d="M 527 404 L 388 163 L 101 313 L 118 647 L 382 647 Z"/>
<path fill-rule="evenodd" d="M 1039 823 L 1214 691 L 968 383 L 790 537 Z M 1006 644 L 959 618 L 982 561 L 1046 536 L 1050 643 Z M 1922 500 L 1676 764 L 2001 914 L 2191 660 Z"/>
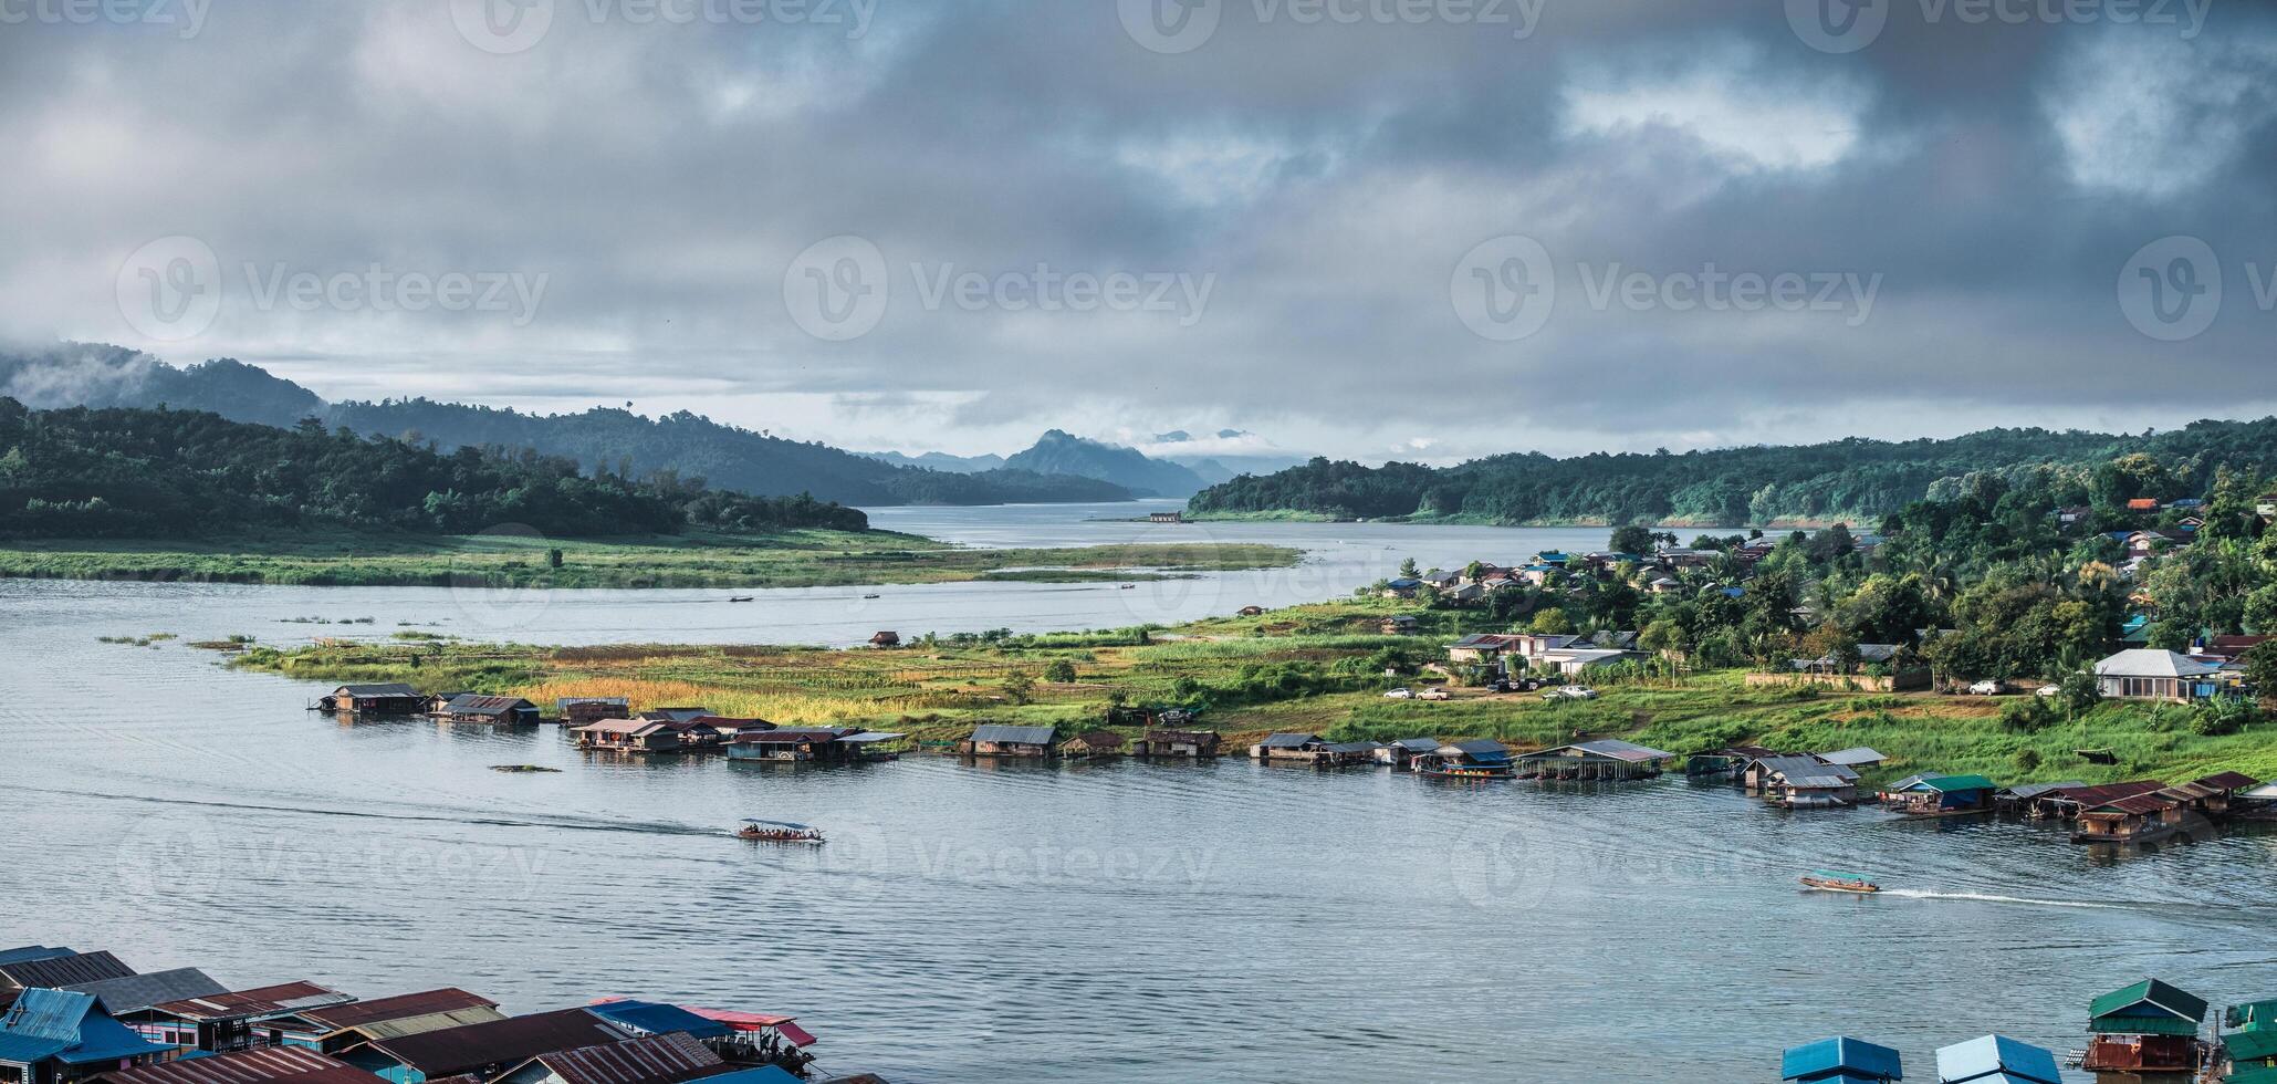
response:
<path fill-rule="evenodd" d="M 1409 615 L 1425 635 L 1380 635 L 1382 617 Z M 1243 747 L 1271 731 L 1330 740 L 1496 738 L 1539 749 L 1585 738 L 1628 738 L 1676 754 L 1751 742 L 1778 749 L 1867 745 L 1890 761 L 1869 783 L 1913 772 L 1983 772 L 2001 783 L 2193 779 L 2238 770 L 2277 777 L 2277 742 L 2261 726 L 2204 736 L 2190 708 L 2104 701 L 2038 731 L 2015 731 L 2001 708 L 2017 697 L 1849 692 L 1746 685 L 1744 670 L 1592 676 L 1589 701 L 1453 688 L 1453 699 L 1384 699 L 1414 683 L 1444 635 L 1475 615 L 1412 601 L 1348 599 L 1207 619 L 1177 629 L 1091 633 L 984 633 L 922 638 L 904 649 L 813 647 L 528 647 L 458 640 L 319 642 L 250 647 L 230 665 L 305 681 L 408 681 L 421 690 L 478 690 L 553 704 L 558 697 L 628 697 L 633 711 L 704 704 L 720 715 L 776 724 L 893 729 L 913 742 L 954 742 L 981 722 L 1107 726 L 1116 704 L 1200 708 L 1200 726 Z M 1471 629 L 1475 631 L 1475 629 Z M 1387 676 L 1384 670 L 1403 676 Z M 2081 749 L 2109 752 L 2090 763 Z"/>

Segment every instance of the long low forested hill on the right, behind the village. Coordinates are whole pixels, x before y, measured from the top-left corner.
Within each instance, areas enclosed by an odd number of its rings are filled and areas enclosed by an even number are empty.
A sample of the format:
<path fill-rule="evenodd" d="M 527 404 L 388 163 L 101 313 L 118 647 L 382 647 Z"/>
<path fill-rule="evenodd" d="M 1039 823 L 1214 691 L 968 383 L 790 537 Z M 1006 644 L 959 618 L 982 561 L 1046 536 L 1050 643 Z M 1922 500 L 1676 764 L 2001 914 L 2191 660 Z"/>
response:
<path fill-rule="evenodd" d="M 2111 460 L 2149 455 L 2113 469 Z M 2277 419 L 2195 421 L 2172 433 L 2109 435 L 1995 428 L 1954 440 L 1838 440 L 1624 455 L 1494 455 L 1432 469 L 1312 460 L 1202 490 L 1189 510 L 1330 517 L 1462 517 L 1491 524 L 1872 524 L 1908 501 L 1940 496 L 1967 474 L 2061 483 L 2081 503 L 2197 496 L 2216 465 L 2277 467 Z"/>

